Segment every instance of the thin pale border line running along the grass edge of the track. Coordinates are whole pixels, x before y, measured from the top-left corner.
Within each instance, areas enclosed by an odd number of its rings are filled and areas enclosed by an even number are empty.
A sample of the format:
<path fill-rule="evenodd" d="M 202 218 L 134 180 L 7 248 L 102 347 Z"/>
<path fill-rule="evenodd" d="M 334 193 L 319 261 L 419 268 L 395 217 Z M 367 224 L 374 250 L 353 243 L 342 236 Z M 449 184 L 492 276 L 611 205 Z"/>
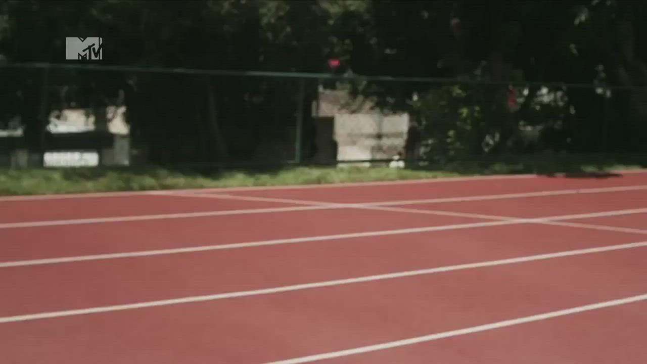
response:
<path fill-rule="evenodd" d="M 629 170 L 611 170 L 609 173 L 618 174 L 643 174 L 647 169 L 629 169 Z M 488 179 L 532 179 L 542 178 L 542 175 L 536 174 L 508 174 L 496 176 L 463 176 L 463 177 L 436 177 L 426 179 L 399 179 L 391 181 L 367 181 L 367 182 L 346 182 L 346 183 L 321 183 L 317 185 L 282 185 L 282 186 L 251 186 L 251 187 L 217 187 L 217 188 L 181 188 L 166 190 L 146 190 L 146 191 L 118 191 L 118 192 L 88 192 L 78 194 L 48 194 L 48 195 L 28 195 L 28 196 L 0 196 L 1 201 L 33 201 L 41 199 L 68 199 L 68 198 L 104 198 L 118 196 L 141 196 L 156 192 L 231 192 L 231 191 L 256 191 L 256 190 L 291 190 L 306 188 L 344 188 L 344 187 L 362 187 L 362 186 L 388 186 L 388 185 L 412 185 L 424 183 L 443 183 L 443 182 L 461 182 L 461 181 L 479 181 Z"/>

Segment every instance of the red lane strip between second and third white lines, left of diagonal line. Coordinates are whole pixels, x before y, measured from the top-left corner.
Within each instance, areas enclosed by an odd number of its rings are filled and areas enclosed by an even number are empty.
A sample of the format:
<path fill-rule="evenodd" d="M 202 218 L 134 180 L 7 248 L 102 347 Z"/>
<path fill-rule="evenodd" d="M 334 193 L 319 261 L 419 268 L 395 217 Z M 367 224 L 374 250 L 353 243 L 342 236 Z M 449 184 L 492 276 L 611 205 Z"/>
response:
<path fill-rule="evenodd" d="M 121 253 L 487 220 L 358 209 L 3 229 L 0 260 Z"/>

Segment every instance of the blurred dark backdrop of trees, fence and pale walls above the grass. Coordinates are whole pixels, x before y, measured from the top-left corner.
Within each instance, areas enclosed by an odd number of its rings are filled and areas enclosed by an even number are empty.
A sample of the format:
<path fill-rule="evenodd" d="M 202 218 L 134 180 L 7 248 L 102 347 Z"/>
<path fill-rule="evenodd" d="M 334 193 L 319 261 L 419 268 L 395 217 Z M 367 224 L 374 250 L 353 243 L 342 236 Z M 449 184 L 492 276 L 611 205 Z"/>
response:
<path fill-rule="evenodd" d="M 0 1 L 0 166 L 640 158 L 644 19 L 612 0 Z M 66 60 L 69 37 L 100 59 Z"/>

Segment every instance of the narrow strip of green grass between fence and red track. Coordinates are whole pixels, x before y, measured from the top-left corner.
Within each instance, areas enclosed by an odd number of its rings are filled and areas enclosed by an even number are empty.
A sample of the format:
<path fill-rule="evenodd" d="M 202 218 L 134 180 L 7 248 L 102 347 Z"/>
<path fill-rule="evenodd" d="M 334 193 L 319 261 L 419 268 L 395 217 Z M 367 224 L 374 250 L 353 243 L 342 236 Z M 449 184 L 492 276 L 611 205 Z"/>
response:
<path fill-rule="evenodd" d="M 647 168 L 647 158 L 611 157 L 510 158 L 508 160 L 462 161 L 415 168 L 374 166 L 298 166 L 266 170 L 230 170 L 195 172 L 188 168 L 66 168 L 0 170 L 0 195 L 61 194 L 73 192 L 109 192 L 160 190 L 173 188 L 245 187 L 276 185 L 312 185 L 356 181 L 388 181 L 492 174 L 556 174 L 590 177 L 591 172 Z"/>

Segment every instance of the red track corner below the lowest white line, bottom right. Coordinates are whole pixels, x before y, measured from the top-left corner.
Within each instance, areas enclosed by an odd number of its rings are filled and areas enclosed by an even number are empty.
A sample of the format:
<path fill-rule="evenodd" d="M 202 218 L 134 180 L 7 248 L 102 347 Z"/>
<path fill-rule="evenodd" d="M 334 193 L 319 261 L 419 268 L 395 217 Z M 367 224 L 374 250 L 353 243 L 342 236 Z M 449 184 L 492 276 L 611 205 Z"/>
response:
<path fill-rule="evenodd" d="M 321 364 L 642 364 L 647 302 L 378 350 Z"/>

